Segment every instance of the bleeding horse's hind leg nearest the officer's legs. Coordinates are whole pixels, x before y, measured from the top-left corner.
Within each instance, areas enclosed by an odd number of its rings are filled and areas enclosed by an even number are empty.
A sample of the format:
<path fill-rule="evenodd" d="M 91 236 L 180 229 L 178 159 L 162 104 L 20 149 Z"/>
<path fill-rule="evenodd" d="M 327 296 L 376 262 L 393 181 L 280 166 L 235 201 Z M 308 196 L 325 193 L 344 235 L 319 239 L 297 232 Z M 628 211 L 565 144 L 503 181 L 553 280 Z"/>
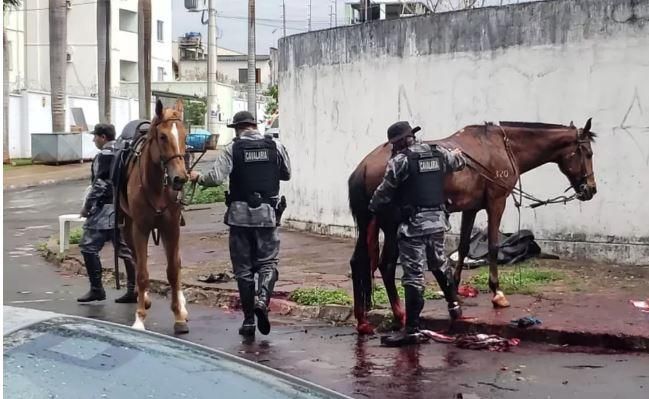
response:
<path fill-rule="evenodd" d="M 389 223 L 384 226 L 383 234 L 385 241 L 383 242 L 383 252 L 381 252 L 381 260 L 379 261 L 379 270 L 381 271 L 381 278 L 385 285 L 385 291 L 390 299 L 390 306 L 392 313 L 400 327 L 406 324 L 406 313 L 401 307 L 399 300 L 399 293 L 395 283 L 395 274 L 397 270 L 397 258 L 399 256 L 399 247 L 397 245 L 397 225 Z"/>

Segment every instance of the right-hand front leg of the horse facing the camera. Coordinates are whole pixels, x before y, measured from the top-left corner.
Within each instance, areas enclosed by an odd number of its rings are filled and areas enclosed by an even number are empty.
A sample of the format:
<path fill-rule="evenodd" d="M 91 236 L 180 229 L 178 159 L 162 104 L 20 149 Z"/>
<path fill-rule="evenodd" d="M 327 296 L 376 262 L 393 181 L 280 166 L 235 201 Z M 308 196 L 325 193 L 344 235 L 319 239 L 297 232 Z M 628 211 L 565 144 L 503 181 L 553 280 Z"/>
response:
<path fill-rule="evenodd" d="M 175 219 L 174 219 L 175 220 Z M 169 223 L 160 230 L 160 238 L 167 255 L 167 280 L 171 287 L 171 311 L 174 312 L 174 334 L 186 334 L 187 309 L 185 296 L 181 290 L 180 282 L 180 253 L 178 251 L 180 227 L 177 223 Z"/>

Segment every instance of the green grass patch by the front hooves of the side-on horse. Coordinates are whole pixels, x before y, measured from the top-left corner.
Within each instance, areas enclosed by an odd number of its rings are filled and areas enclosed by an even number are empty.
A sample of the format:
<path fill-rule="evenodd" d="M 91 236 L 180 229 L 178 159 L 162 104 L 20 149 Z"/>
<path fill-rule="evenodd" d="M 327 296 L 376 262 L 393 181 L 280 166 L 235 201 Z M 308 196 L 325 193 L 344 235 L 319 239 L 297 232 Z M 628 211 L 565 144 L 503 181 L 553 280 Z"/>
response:
<path fill-rule="evenodd" d="M 564 274 L 555 270 L 540 269 L 535 263 L 522 263 L 507 270 L 500 269 L 500 289 L 507 294 L 534 294 L 539 286 L 562 280 Z M 481 291 L 489 290 L 489 269 L 481 268 L 469 283 Z"/>

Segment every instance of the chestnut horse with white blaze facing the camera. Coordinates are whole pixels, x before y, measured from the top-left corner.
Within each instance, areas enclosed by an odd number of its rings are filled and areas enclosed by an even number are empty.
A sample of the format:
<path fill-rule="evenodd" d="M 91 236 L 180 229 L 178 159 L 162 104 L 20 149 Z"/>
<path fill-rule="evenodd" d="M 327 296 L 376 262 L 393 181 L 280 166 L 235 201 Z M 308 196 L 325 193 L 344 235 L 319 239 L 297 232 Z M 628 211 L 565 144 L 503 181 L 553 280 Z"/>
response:
<path fill-rule="evenodd" d="M 158 100 L 151 127 L 134 144 L 134 156 L 126 165 L 125 190 L 120 195 L 124 215 L 124 238 L 137 262 L 137 311 L 133 328 L 144 330 L 148 295 L 147 249 L 149 236 L 157 230 L 167 255 L 167 280 L 171 286 L 174 332 L 187 333 L 185 297 L 180 289 L 180 211 L 179 192 L 188 179 L 185 169 L 183 104 L 163 109 Z M 155 239 L 155 236 L 154 236 Z"/>

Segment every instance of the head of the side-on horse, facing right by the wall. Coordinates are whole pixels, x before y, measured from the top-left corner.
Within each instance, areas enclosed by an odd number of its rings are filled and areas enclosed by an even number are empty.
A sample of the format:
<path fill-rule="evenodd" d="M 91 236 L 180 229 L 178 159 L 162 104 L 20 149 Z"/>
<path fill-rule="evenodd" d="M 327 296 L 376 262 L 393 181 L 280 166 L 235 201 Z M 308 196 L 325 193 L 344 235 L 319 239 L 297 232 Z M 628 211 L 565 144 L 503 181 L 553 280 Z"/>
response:
<path fill-rule="evenodd" d="M 559 169 L 570 180 L 572 188 L 577 193 L 577 199 L 588 201 L 597 192 L 591 148 L 596 134 L 590 131 L 590 119 L 583 129 L 576 128 L 572 122 L 570 122 L 570 127 L 575 131 L 575 140 L 560 152 Z"/>

